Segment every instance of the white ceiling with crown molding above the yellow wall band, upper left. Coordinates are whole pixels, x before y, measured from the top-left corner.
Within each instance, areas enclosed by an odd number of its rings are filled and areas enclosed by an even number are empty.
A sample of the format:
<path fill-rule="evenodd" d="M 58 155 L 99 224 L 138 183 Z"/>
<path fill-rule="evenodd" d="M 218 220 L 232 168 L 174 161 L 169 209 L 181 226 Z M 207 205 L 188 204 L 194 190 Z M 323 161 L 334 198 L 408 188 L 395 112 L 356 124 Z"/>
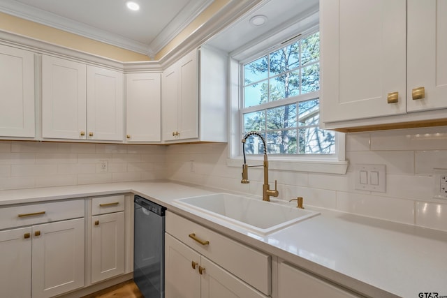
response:
<path fill-rule="evenodd" d="M 0 0 L 0 11 L 153 57 L 212 0 Z"/>

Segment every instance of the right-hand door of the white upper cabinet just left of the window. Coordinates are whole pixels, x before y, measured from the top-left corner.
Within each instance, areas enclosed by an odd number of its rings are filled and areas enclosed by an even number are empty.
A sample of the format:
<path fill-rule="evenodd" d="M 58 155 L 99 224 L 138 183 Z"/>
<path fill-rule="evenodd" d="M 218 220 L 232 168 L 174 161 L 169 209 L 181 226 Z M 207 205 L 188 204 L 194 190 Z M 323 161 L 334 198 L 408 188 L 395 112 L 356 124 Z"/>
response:
<path fill-rule="evenodd" d="M 197 50 L 179 60 L 179 139 L 198 137 L 198 61 Z"/>

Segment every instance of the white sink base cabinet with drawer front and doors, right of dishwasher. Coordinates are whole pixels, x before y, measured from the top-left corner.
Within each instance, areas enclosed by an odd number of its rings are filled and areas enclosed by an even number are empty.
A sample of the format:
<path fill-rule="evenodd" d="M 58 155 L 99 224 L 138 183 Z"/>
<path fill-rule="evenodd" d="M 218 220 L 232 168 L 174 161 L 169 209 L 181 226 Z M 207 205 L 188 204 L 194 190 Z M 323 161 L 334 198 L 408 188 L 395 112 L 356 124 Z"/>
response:
<path fill-rule="evenodd" d="M 268 297 L 271 257 L 166 212 L 166 298 Z"/>

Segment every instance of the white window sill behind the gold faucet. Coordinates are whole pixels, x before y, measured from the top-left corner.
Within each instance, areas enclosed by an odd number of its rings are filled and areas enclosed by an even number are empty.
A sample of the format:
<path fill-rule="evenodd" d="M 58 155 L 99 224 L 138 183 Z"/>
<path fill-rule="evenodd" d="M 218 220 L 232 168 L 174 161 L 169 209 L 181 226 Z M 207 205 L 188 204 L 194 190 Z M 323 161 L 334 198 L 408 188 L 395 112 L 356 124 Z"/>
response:
<path fill-rule="evenodd" d="M 263 163 L 262 157 L 247 158 L 248 165 L 260 165 Z M 228 167 L 241 167 L 244 164 L 242 157 L 227 158 Z M 270 170 L 293 171 L 293 172 L 314 172 L 324 174 L 346 174 L 348 170 L 348 161 L 336 161 L 329 159 L 274 159 L 269 158 L 268 166 Z"/>

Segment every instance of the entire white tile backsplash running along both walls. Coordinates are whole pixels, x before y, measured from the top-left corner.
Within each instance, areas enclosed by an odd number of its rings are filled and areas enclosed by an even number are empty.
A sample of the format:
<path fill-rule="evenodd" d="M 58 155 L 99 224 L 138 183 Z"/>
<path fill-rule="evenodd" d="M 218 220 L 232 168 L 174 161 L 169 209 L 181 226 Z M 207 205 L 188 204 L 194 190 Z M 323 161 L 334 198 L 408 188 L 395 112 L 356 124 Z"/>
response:
<path fill-rule="evenodd" d="M 175 146 L 0 141 L 0 190 L 172 179 L 261 195 L 262 169 L 227 165 L 227 144 Z M 447 169 L 447 126 L 346 135 L 346 174 L 270 170 L 281 200 L 447 231 L 433 168 Z M 107 161 L 108 171 L 101 171 Z M 386 165 L 386 193 L 354 189 L 354 165 Z"/>

